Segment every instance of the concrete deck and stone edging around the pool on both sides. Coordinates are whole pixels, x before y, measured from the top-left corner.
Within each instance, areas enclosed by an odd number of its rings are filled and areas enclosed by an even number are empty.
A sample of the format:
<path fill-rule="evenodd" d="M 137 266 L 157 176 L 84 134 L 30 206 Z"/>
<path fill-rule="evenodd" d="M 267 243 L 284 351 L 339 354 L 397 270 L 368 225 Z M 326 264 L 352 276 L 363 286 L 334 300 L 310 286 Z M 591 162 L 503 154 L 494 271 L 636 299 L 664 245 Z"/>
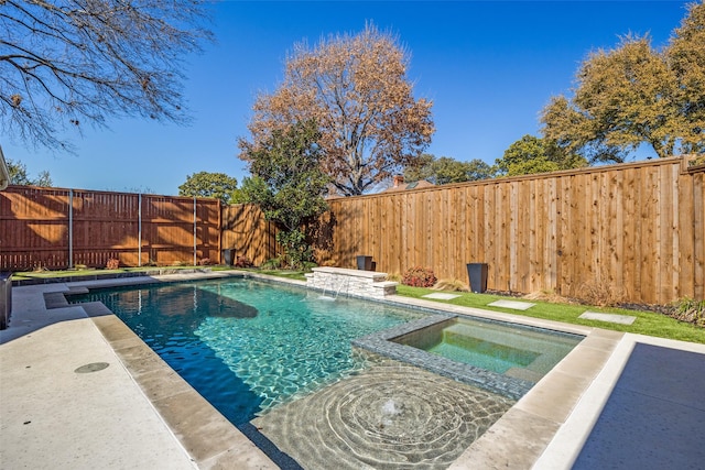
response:
<path fill-rule="evenodd" d="M 57 308 L 46 308 L 45 293 L 148 280 L 13 288 L 10 328 L 0 331 L 0 467 L 279 468 L 100 304 L 87 307 L 59 304 L 54 305 Z M 642 427 L 666 423 L 674 436 L 685 440 L 688 430 L 694 439 L 702 434 L 692 429 L 702 430 L 705 409 L 701 401 L 687 398 L 698 396 L 696 392 L 703 390 L 704 345 L 429 300 L 404 297 L 393 300 L 586 335 L 564 361 L 451 468 L 567 469 L 574 463 L 589 468 L 589 462 L 614 459 L 611 448 L 623 449 L 626 455 L 658 450 L 666 458 L 668 452 L 679 452 L 679 462 L 702 462 L 698 449 L 691 447 L 691 455 L 685 452 L 683 460 L 684 452 L 679 450 L 682 446 L 672 450 L 663 434 L 659 441 L 644 438 L 651 434 Z M 650 347 L 646 356 L 649 360 L 643 359 L 639 345 Z M 682 371 L 687 374 L 685 378 L 679 378 L 680 371 L 673 367 L 650 365 L 663 357 L 677 361 L 679 354 L 684 354 L 690 364 Z M 109 367 L 91 373 L 75 372 L 98 362 Z M 682 393 L 647 390 L 641 396 L 650 393 L 649 400 L 634 400 L 640 390 L 666 380 Z M 627 397 L 634 404 L 631 415 L 620 414 Z M 629 420 L 633 416 L 641 419 Z M 677 419 L 670 419 L 672 416 Z M 619 423 L 628 427 L 626 431 L 619 429 Z M 636 424 L 641 427 L 629 428 Z M 687 448 L 687 441 L 681 444 Z M 618 462 L 614 467 L 619 467 Z"/>

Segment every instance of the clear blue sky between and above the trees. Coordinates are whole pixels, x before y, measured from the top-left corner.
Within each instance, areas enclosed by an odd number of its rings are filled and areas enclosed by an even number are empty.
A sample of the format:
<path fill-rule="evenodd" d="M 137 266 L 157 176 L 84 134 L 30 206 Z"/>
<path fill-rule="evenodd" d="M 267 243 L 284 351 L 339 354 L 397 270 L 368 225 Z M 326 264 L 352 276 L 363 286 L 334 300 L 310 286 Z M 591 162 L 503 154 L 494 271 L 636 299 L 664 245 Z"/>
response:
<path fill-rule="evenodd" d="M 436 133 L 426 153 L 494 163 L 524 134 L 551 96 L 570 92 L 596 48 L 627 33 L 664 45 L 685 15 L 684 1 L 310 1 L 213 6 L 216 43 L 186 63 L 188 127 L 140 119 L 73 136 L 77 154 L 25 149 L 1 135 L 7 159 L 31 177 L 50 172 L 58 187 L 176 195 L 186 176 L 247 176 L 237 139 L 247 136 L 258 91 L 281 83 L 286 54 L 303 40 L 364 29 L 372 21 L 411 53 L 415 97 L 434 101 Z"/>

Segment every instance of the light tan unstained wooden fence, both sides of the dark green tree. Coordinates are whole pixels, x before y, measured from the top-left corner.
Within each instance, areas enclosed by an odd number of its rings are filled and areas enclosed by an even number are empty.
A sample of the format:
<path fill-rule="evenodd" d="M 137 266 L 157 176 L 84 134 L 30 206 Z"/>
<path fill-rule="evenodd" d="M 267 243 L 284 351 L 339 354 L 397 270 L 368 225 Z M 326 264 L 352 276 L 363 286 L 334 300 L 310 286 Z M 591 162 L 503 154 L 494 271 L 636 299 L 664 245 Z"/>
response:
<path fill-rule="evenodd" d="M 317 261 L 355 267 L 355 256 L 367 254 L 378 271 L 419 265 L 466 284 L 466 264 L 482 262 L 496 291 L 581 297 L 614 288 L 636 303 L 702 299 L 704 188 L 705 167 L 674 157 L 332 199 Z M 234 230 L 227 237 L 242 249 L 258 243 L 258 260 L 275 254 L 258 211 L 227 210 L 224 239 Z"/>

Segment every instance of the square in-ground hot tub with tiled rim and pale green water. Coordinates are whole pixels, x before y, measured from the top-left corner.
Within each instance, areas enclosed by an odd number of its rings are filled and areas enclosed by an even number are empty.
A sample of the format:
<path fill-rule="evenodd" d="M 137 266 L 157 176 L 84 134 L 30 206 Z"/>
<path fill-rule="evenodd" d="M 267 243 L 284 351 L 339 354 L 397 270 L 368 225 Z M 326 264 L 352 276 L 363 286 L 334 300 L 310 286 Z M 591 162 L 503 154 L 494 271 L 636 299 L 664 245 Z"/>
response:
<path fill-rule="evenodd" d="M 585 337 L 441 310 L 352 341 L 406 362 L 519 400 Z"/>

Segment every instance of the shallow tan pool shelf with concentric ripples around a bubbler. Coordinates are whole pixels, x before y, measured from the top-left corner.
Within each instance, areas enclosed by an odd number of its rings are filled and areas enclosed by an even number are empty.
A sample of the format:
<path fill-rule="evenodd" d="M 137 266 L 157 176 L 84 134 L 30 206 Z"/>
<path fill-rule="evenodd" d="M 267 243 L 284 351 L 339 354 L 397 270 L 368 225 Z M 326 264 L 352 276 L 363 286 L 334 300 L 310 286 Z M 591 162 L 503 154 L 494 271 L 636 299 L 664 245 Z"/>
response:
<path fill-rule="evenodd" d="M 384 360 L 252 423 L 306 469 L 442 469 L 513 403 Z"/>

